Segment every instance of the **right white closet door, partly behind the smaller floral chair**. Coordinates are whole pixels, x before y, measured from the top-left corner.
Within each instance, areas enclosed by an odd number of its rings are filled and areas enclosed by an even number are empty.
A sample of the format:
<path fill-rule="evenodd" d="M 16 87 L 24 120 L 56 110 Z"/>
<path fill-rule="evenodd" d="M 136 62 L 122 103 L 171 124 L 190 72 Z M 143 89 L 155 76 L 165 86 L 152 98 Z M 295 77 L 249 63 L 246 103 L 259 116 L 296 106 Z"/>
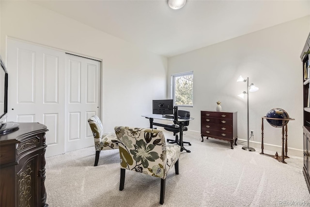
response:
<path fill-rule="evenodd" d="M 94 145 L 87 120 L 99 116 L 101 63 L 66 54 L 65 64 L 65 152 L 69 152 Z"/>

